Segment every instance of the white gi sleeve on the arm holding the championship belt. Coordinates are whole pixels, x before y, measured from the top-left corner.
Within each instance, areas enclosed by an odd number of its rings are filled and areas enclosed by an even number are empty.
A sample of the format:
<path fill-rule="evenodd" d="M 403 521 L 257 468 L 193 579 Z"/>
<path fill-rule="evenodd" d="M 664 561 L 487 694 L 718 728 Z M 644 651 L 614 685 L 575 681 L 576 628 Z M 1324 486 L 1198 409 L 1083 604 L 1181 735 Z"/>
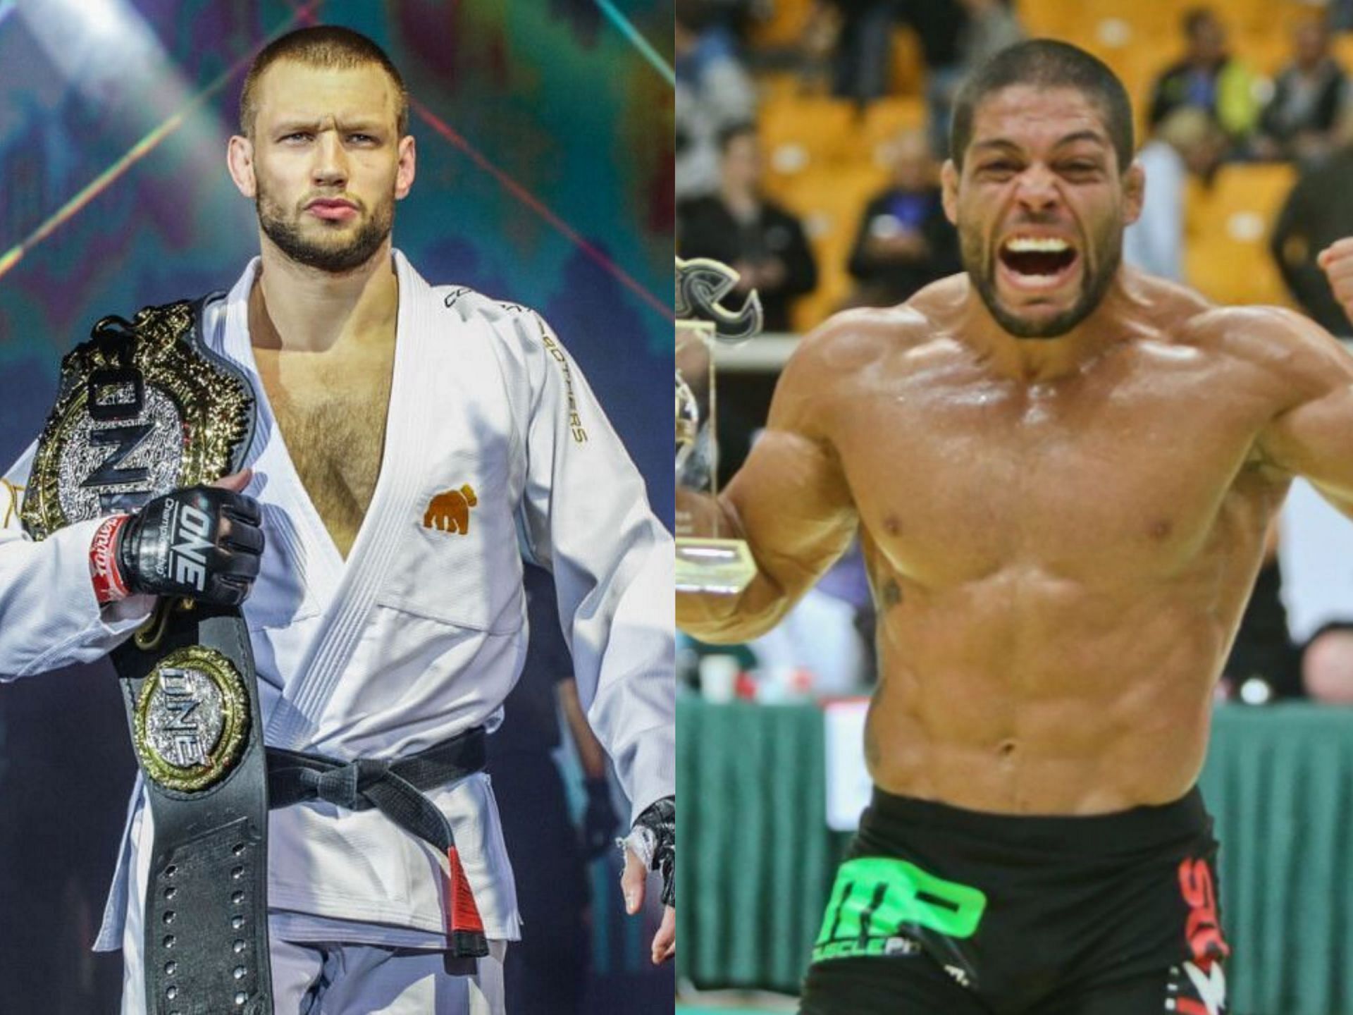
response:
<path fill-rule="evenodd" d="M 0 480 L 0 681 L 107 655 L 154 604 L 133 595 L 100 609 L 89 579 L 89 543 L 100 518 L 76 522 L 41 543 L 19 512 L 37 444 Z"/>

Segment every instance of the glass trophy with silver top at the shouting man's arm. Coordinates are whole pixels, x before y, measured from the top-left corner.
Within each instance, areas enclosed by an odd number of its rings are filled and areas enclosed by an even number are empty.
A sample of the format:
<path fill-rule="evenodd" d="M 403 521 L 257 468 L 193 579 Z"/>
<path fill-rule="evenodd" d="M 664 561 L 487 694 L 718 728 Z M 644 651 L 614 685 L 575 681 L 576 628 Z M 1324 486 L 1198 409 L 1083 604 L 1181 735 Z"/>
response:
<path fill-rule="evenodd" d="M 676 591 L 736 595 L 756 574 L 751 551 L 721 531 L 723 513 L 705 521 L 691 498 L 718 495 L 714 351 L 762 329 L 760 299 L 721 304 L 737 272 L 710 260 L 676 258 Z"/>

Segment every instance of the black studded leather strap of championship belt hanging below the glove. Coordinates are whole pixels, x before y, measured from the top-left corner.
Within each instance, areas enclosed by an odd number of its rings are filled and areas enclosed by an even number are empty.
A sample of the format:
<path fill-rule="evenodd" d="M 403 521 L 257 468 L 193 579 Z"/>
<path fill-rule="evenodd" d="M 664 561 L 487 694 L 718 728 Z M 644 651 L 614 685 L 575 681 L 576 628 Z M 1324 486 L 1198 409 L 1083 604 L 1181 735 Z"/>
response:
<path fill-rule="evenodd" d="M 248 739 L 230 774 L 207 789 L 176 792 L 147 773 L 156 835 L 143 915 L 146 1008 L 272 1015 L 268 782 L 245 623 L 235 610 L 196 608 L 177 613 L 153 651 L 127 641 L 112 660 L 135 738 L 142 686 L 166 655 L 189 646 L 221 652 L 238 671 L 248 690 Z"/>

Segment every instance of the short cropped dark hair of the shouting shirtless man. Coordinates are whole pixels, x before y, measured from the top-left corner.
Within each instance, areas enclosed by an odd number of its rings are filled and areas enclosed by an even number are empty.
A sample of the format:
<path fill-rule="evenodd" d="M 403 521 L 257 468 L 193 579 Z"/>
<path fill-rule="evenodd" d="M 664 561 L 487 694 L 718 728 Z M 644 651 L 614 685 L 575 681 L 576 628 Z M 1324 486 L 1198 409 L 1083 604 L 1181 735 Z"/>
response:
<path fill-rule="evenodd" d="M 1070 88 L 1095 103 L 1104 115 L 1118 168 L 1132 164 L 1132 102 L 1118 76 L 1082 49 L 1054 39 L 1030 39 L 1004 49 L 982 64 L 958 92 L 948 149 L 954 165 L 962 168 L 963 153 L 973 141 L 973 118 L 986 96 L 1013 85 Z"/>

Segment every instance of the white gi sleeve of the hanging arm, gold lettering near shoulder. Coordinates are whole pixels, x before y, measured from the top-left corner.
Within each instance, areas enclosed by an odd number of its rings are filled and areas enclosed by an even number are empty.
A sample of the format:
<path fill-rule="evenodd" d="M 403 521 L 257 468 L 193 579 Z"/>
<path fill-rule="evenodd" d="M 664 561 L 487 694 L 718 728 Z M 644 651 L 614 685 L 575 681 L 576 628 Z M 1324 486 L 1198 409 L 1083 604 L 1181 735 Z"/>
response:
<path fill-rule="evenodd" d="M 518 326 L 534 332 L 524 540 L 555 575 L 578 694 L 633 819 L 676 792 L 672 540 L 572 357 L 534 314 Z"/>

